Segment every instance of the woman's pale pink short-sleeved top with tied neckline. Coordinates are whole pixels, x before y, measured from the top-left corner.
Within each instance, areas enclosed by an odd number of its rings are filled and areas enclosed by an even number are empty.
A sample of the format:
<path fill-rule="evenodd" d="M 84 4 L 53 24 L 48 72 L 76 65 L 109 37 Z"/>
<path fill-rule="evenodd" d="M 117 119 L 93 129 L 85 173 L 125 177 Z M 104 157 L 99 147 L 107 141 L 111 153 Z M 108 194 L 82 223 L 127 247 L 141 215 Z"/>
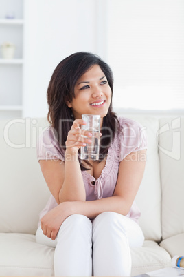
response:
<path fill-rule="evenodd" d="M 113 143 L 111 143 L 108 148 L 106 165 L 102 170 L 100 177 L 95 179 L 88 173 L 88 171 L 82 171 L 87 201 L 113 196 L 115 185 L 117 183 L 119 163 L 131 152 L 147 148 L 145 127 L 132 119 L 118 117 L 118 120 L 120 132 L 115 134 Z M 38 161 L 60 159 L 65 162 L 65 156 L 60 150 L 58 141 L 54 135 L 54 130 L 51 126 L 47 127 L 46 130 L 43 130 L 39 137 L 37 156 Z M 54 196 L 51 195 L 45 209 L 40 213 L 40 218 L 57 205 Z M 137 221 L 140 214 L 139 208 L 134 201 L 126 216 Z"/>

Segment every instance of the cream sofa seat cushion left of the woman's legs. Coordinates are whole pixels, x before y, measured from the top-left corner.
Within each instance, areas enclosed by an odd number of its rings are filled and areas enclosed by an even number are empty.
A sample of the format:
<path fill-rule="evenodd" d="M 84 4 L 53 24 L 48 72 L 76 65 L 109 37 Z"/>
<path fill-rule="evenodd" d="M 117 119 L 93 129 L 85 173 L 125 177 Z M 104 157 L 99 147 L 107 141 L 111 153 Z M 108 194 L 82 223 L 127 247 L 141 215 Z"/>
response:
<path fill-rule="evenodd" d="M 54 248 L 32 234 L 0 234 L 0 276 L 54 276 Z"/>

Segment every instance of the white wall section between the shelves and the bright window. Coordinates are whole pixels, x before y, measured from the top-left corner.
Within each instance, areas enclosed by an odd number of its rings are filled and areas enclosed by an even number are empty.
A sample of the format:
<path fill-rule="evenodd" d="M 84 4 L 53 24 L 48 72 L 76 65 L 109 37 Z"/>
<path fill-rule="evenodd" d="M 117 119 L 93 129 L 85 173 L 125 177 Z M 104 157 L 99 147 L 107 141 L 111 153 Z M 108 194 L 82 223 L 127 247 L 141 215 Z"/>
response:
<path fill-rule="evenodd" d="M 97 53 L 94 0 L 25 0 L 23 116 L 47 116 L 46 92 L 56 65 L 78 51 Z"/>

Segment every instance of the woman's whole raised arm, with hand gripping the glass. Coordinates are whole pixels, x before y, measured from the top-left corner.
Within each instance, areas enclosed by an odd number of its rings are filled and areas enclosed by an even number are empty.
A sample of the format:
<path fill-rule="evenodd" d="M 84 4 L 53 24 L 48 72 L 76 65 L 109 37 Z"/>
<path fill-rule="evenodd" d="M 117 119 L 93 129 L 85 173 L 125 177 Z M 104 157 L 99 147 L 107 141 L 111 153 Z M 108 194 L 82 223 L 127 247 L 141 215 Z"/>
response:
<path fill-rule="evenodd" d="M 58 204 L 66 201 L 85 201 L 86 192 L 80 164 L 78 150 L 81 146 L 90 143 L 88 131 L 82 131 L 82 119 L 73 122 L 66 141 L 65 162 L 60 160 L 40 161 L 41 170 L 51 194 Z M 81 136 L 89 136 L 84 138 Z"/>

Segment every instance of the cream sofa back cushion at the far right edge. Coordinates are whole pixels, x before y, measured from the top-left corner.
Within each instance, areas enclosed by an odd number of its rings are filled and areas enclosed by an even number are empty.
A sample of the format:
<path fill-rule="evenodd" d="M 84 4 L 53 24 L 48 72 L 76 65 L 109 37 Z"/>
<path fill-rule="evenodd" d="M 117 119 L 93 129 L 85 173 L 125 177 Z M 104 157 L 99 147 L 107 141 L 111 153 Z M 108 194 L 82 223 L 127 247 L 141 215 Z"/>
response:
<path fill-rule="evenodd" d="M 184 232 L 184 118 L 160 119 L 163 239 Z"/>

